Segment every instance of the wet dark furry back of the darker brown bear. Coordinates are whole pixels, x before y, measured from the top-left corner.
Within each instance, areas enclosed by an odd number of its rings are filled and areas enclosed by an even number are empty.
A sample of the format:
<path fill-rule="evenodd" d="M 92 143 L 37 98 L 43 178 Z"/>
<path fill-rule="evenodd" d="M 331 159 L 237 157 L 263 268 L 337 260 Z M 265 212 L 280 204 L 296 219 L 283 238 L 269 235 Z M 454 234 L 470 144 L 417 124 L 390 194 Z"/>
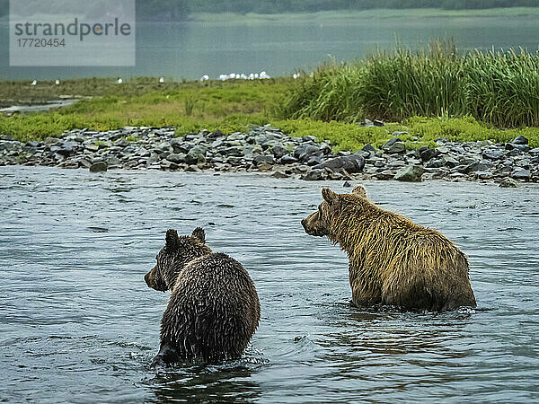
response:
<path fill-rule="evenodd" d="M 181 270 L 162 331 L 181 341 L 182 357 L 221 360 L 241 356 L 259 321 L 259 298 L 248 272 L 228 255 L 211 253 Z"/>

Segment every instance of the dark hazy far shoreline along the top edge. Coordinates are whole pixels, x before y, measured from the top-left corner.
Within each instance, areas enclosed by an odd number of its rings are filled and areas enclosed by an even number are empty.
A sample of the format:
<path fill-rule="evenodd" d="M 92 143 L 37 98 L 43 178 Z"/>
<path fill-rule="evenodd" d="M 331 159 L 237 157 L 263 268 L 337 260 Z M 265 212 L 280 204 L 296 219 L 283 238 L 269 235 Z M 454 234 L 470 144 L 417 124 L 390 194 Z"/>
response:
<path fill-rule="evenodd" d="M 538 7 L 539 0 L 136 0 L 139 20 L 178 21 L 190 13 L 287 13 L 374 8 L 442 8 L 466 10 Z M 9 0 L 0 0 L 0 16 Z M 54 4 L 54 0 L 49 0 Z"/>

